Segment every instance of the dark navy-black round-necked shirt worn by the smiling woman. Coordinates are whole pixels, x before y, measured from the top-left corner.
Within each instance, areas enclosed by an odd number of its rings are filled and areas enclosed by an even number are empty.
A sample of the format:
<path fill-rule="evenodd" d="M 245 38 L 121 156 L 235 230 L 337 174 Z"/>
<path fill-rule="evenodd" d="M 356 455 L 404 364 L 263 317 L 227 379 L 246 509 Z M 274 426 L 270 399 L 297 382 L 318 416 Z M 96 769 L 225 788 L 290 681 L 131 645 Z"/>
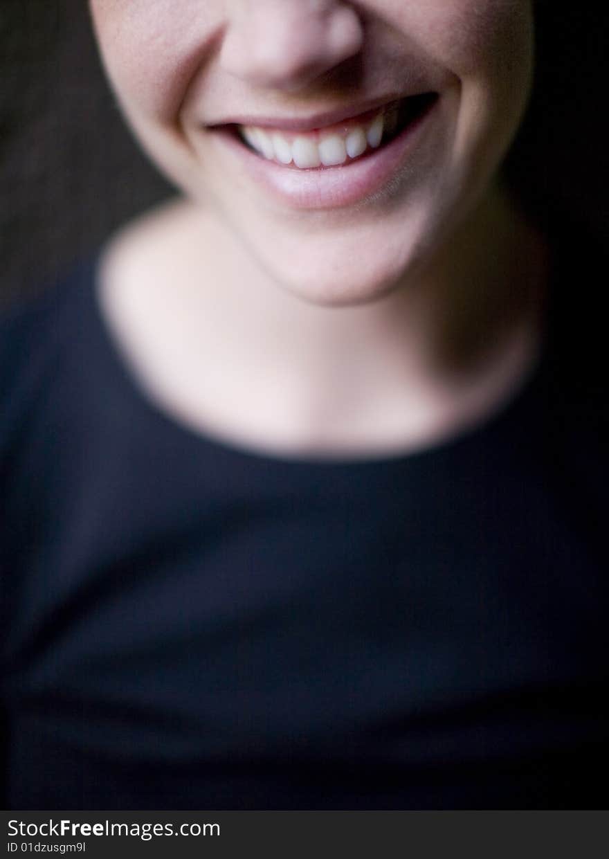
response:
<path fill-rule="evenodd" d="M 5 807 L 606 807 L 609 422 L 584 250 L 557 260 L 521 391 L 375 460 L 175 423 L 121 363 L 92 263 L 10 314 Z"/>

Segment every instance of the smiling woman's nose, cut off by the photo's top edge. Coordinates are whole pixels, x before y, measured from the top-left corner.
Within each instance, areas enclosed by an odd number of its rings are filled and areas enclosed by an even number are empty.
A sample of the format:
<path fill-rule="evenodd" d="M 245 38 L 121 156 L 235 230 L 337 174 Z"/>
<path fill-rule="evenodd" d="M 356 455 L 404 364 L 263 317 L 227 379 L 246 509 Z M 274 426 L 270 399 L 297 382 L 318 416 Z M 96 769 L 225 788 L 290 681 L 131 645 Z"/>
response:
<path fill-rule="evenodd" d="M 228 9 L 220 64 L 259 88 L 307 88 L 362 48 L 362 21 L 341 0 L 233 0 Z"/>

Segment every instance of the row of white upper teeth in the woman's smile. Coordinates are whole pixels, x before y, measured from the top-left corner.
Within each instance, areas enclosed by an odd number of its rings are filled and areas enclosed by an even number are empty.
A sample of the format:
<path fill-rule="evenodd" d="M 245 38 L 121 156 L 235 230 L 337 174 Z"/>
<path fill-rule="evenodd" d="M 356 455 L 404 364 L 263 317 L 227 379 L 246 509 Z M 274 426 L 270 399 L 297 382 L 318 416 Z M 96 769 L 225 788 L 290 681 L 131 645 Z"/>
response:
<path fill-rule="evenodd" d="M 280 164 L 294 163 L 301 169 L 336 167 L 344 164 L 347 158 L 357 158 L 366 149 L 376 149 L 381 145 L 383 132 L 387 126 L 386 115 L 379 113 L 368 125 L 353 125 L 342 134 L 332 131 L 320 134 L 319 139 L 297 136 L 289 139 L 280 131 L 270 131 L 244 125 L 241 135 L 260 155 Z"/>

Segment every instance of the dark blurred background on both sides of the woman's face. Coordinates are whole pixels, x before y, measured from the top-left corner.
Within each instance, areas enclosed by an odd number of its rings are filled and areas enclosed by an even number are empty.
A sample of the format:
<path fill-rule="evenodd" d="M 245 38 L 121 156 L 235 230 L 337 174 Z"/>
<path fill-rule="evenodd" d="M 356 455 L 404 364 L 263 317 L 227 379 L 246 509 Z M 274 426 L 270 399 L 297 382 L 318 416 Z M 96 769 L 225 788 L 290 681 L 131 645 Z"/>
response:
<path fill-rule="evenodd" d="M 564 209 L 609 241 L 609 9 L 538 4 L 535 93 L 509 171 L 540 220 Z M 170 192 L 103 80 L 86 0 L 0 0 L 0 302 Z"/>

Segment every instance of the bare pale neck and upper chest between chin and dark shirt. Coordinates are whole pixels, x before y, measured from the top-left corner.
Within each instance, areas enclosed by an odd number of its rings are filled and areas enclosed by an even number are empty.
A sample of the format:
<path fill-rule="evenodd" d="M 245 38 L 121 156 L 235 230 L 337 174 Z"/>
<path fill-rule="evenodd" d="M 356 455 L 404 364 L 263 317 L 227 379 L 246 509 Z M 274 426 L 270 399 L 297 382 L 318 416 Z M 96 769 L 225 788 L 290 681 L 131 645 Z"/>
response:
<path fill-rule="evenodd" d="M 534 362 L 544 249 L 498 189 L 429 269 L 350 308 L 278 289 L 232 235 L 190 205 L 166 210 L 161 222 L 171 239 L 153 258 L 155 279 L 137 278 L 146 283 L 147 314 L 138 360 L 151 369 L 156 356 L 161 387 L 186 404 L 180 411 L 197 410 L 202 388 L 215 392 L 224 411 L 211 423 L 225 434 L 234 426 L 239 436 L 245 413 L 258 416 L 252 440 L 263 447 L 417 445 L 490 411 Z M 154 222 L 144 228 L 149 249 L 154 231 Z M 193 277 L 199 271 L 204 283 Z M 167 305 L 172 282 L 180 293 Z M 132 299 L 136 324 L 137 290 Z M 167 366 L 181 368 L 171 382 L 163 381 Z"/>

